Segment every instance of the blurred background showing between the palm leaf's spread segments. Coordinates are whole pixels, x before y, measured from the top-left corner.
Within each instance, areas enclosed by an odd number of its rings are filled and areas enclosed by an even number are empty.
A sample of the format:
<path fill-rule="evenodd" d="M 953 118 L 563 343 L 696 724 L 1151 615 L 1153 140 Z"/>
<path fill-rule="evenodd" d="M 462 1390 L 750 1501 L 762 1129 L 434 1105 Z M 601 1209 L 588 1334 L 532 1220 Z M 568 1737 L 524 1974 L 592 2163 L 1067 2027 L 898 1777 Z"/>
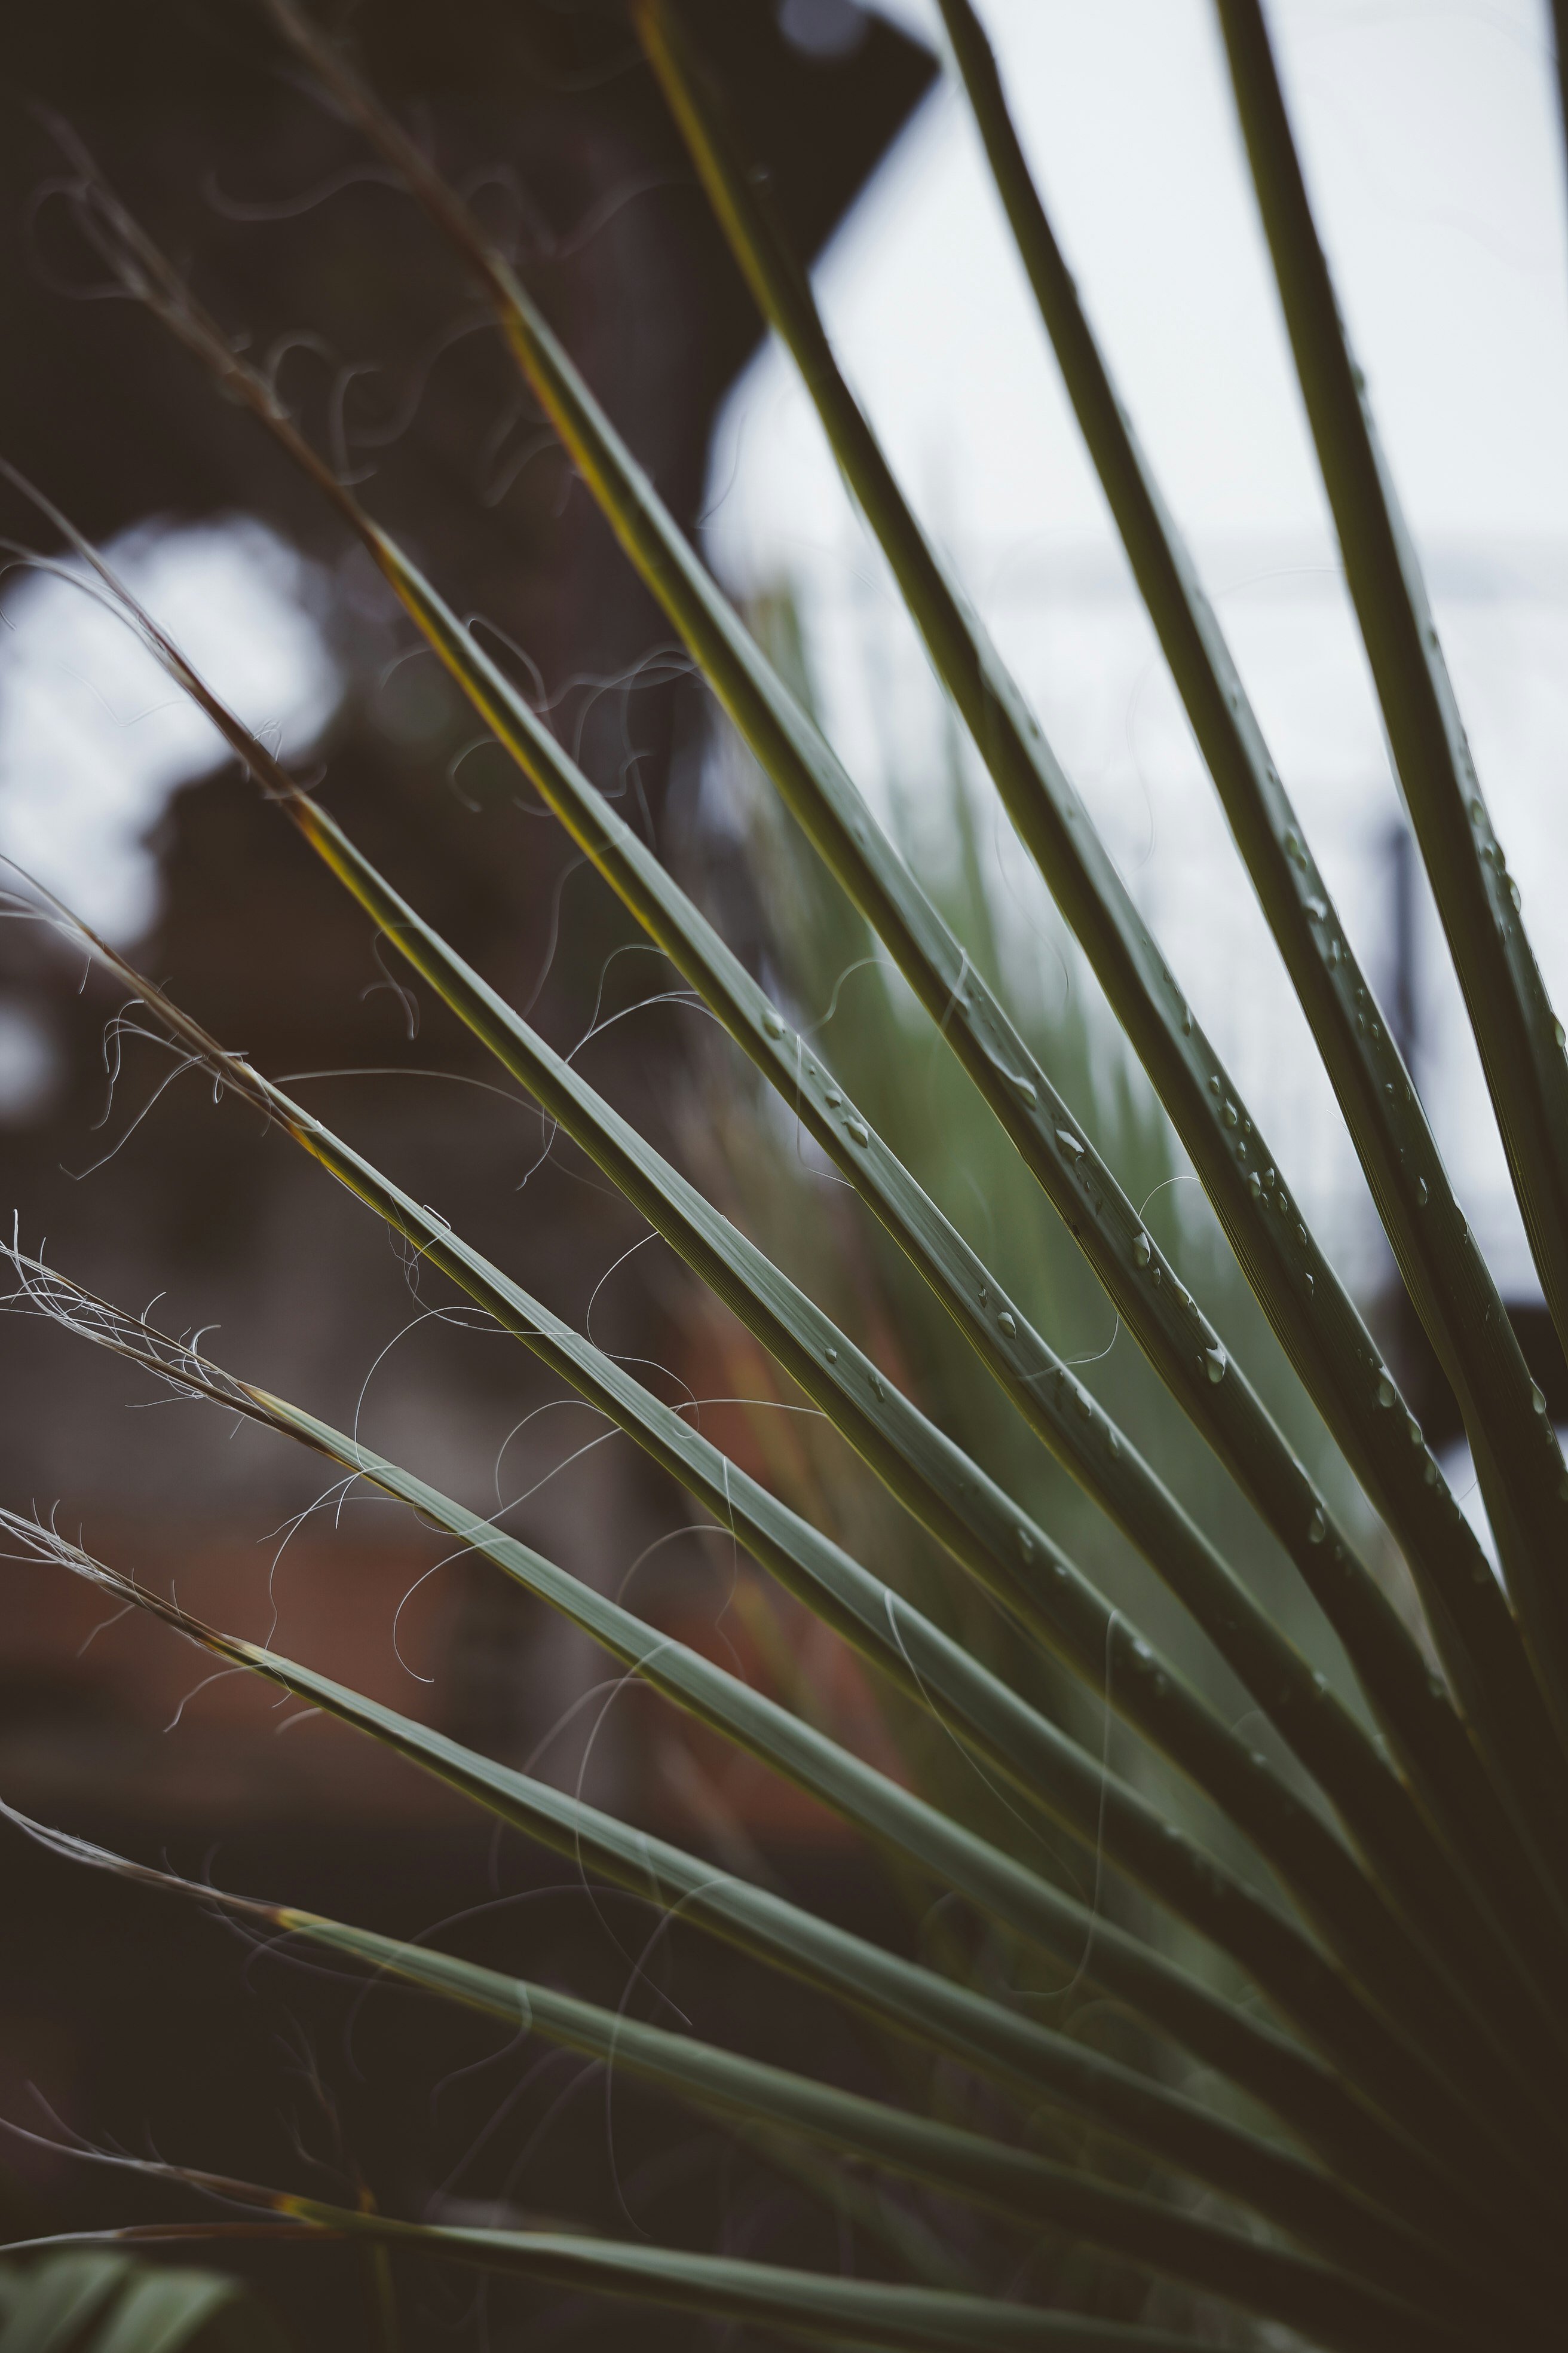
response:
<path fill-rule="evenodd" d="M 872 421 L 1241 1080 L 1269 1153 L 1472 1489 L 1251 887 L 1138 605 L 961 99 L 919 0 L 708 0 L 750 146 L 816 259 Z M 1274 758 L 1432 1111 L 1559 1421 L 1547 1334 L 1458 988 L 1342 591 L 1204 0 L 990 0 L 1030 158 L 1121 393 L 1194 544 Z M 788 358 L 764 344 L 609 0 L 374 0 L 371 78 L 512 249 L 611 416 L 811 699 L 1152 1231 L 1293 1440 L 1403 1572 L 1262 1327 L 1093 979 L 936 689 Z M 1568 209 L 1537 0 L 1276 0 L 1312 193 L 1547 986 L 1568 995 Z M 0 456 L 40 485 L 355 840 L 654 1141 L 910 1386 L 1232 1711 L 1246 1697 L 1006 1409 L 952 1386 L 936 1311 L 477 734 L 371 567 L 134 306 L 61 200 L 56 122 L 275 369 L 313 440 L 545 704 L 595 784 L 790 1002 L 1324 1668 L 1331 1638 L 1119 1334 L 1053 1214 L 853 911 L 689 678 L 447 249 L 313 96 L 247 0 L 96 0 L 16 28 L 0 165 L 12 365 Z M 49 553 L 7 494 L 7 534 Z M 73 584 L 14 565 L 0 619 L 0 852 L 292 1080 L 381 1167 L 628 1360 L 879 1574 L 1009 1673 L 999 1624 L 715 1301 L 531 1106 L 409 991 L 292 828 L 221 762 Z M 642 1614 L 1018 1838 L 940 1739 L 693 1525 L 691 1501 L 454 1311 L 287 1141 L 172 1085 L 169 1056 L 33 922 L 0 929 L 0 1209 L 24 1249 L 308 1405 Z M 893 1071 L 900 1073 L 893 1082 Z M 646 1242 L 646 1247 L 642 1247 Z M 200 1614 L 581 1788 L 945 1967 L 1013 1967 L 827 1817 L 628 1689 L 585 1640 L 409 1518 L 322 1494 L 308 1459 L 160 1398 L 38 1320 L 0 1327 L 0 1494 Z M 1093 1367 L 1093 1369 L 1088 1369 Z M 1467 1508 L 1481 1513 L 1467 1494 Z M 649 1915 L 350 1734 L 106 1624 L 5 1562 L 0 1798 L 146 1859 L 618 2000 Z M 1032 1697 L 1095 1748 L 1067 1678 Z M 1159 1769 L 1105 1734 L 1117 1765 Z M 1110 1753 L 1110 1748 L 1107 1748 Z M 1171 1791 L 1215 1842 L 1222 1826 Z M 1039 1861 L 1039 1857 L 1034 1857 Z M 1239 1857 L 1237 1857 L 1239 1859 Z M 1063 1845 L 1053 1871 L 1077 1885 Z M 802 2181 L 559 2061 L 411 2000 L 320 1981 L 5 1833 L 0 2115 L 268 2179 L 364 2181 L 400 2212 L 562 2214 L 816 2261 L 907 2259 L 910 2212 Z M 1135 1899 L 1107 1901 L 1138 1918 Z M 1147 1925 L 1147 1922 L 1145 1922 Z M 1159 1929 L 1166 1934 L 1164 1929 Z M 106 1965 L 108 1962 L 108 1965 Z M 665 1995 L 705 2033 L 886 2087 L 886 2052 L 679 1932 Z M 1237 1988 L 1244 1998 L 1246 1988 Z M 665 1998 L 661 1995 L 661 1998 Z M 785 2014 L 788 2012 L 788 2014 Z M 1126 2047 L 1126 2028 L 1079 2031 Z M 1121 2038 L 1121 2040 L 1119 2040 Z M 33 2092 L 35 2087 L 35 2092 Z M 315 2169 L 315 2172 L 310 2172 Z M 167 2212 L 47 2148 L 0 2146 L 14 2231 Z M 900 2235 L 903 2233 L 903 2235 Z M 7 2228 L 7 2235 L 12 2231 Z M 846 2252 L 849 2249 L 849 2252 Z M 259 2259 L 261 2264 L 261 2259 Z M 1072 2294 L 1070 2249 L 1034 2252 Z M 1056 2268 L 1053 2268 L 1056 2266 Z M 270 2259 L 306 2341 L 355 2341 L 336 2252 Z M 411 2278 L 414 2344 L 621 2341 L 623 2320 Z M 679 2322 L 639 2341 L 689 2344 Z"/>

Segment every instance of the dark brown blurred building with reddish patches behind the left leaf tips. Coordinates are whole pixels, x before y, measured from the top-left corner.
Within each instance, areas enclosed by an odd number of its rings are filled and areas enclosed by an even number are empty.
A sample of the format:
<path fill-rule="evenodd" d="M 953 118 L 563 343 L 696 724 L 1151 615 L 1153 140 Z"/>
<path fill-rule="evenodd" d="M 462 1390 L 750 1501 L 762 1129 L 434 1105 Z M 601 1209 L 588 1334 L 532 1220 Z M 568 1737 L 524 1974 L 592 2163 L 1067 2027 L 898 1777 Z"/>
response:
<path fill-rule="evenodd" d="M 710 0 L 701 19 L 799 247 L 820 252 L 919 106 L 931 56 L 853 0 Z M 348 28 L 696 529 L 712 416 L 759 320 L 621 9 L 383 0 Z M 61 0 L 9 28 L 7 89 L 0 452 L 113 544 L 153 602 L 183 595 L 193 642 L 233 598 L 228 638 L 254 633 L 259 659 L 247 718 L 289 718 L 289 748 L 320 769 L 327 805 L 557 1047 L 602 1024 L 583 1068 L 670 1141 L 693 1016 L 663 1002 L 635 1012 L 661 1000 L 668 969 L 477 739 L 313 492 L 150 318 L 101 299 L 101 266 L 54 193 L 52 115 L 277 369 L 378 520 L 484 619 L 595 781 L 679 856 L 701 821 L 703 699 L 449 252 L 242 0 Z M 7 532 L 35 541 L 21 499 Z M 75 640 L 52 635 L 59 600 L 21 574 L 9 595 L 0 847 L 52 866 L 56 887 L 75 875 L 87 899 L 101 892 L 89 911 L 212 1031 L 296 1078 L 322 1118 L 550 1306 L 592 1315 L 595 1339 L 644 1362 L 663 1393 L 701 1384 L 717 1358 L 689 1285 L 663 1249 L 618 1268 L 642 1226 L 609 1186 L 496 1092 L 292 828 L 219 767 L 216 739 L 143 758 L 162 720 L 132 687 L 115 701 L 71 675 Z M 179 612 L 169 619 L 179 631 Z M 294 633 L 292 671 L 268 671 L 266 631 Z M 71 718 L 94 701 L 110 713 L 96 739 Z M 141 779 L 134 793 L 115 784 L 118 751 Z M 522 1348 L 454 1315 L 289 1144 L 214 1106 L 202 1080 L 160 1092 L 167 1054 L 115 1028 L 118 1009 L 38 927 L 0 929 L 2 1205 L 21 1245 L 47 1245 L 52 1264 L 122 1306 L 155 1299 L 169 1329 L 209 1327 L 221 1362 L 362 1428 L 477 1508 L 510 1506 L 510 1527 L 599 1586 L 637 1569 L 639 1607 L 696 1614 L 701 1628 L 719 1598 L 703 1539 L 682 1534 L 689 1501 Z M 717 1798 L 701 1753 L 672 1748 L 635 1701 L 607 1711 L 602 1657 L 498 1577 L 442 1565 L 411 1518 L 324 1497 L 310 1459 L 160 1400 L 59 1332 L 12 1315 L 2 1334 L 7 1504 L 59 1508 L 71 1534 L 200 1614 L 273 1635 L 599 1802 L 698 1842 L 733 1833 L 736 1786 Z M 212 1661 L 155 1626 L 106 1624 L 101 1598 L 56 1569 L 2 1574 L 7 1802 L 139 1852 L 174 1840 L 186 1864 L 228 1840 L 219 1868 L 242 1873 L 249 1854 L 280 1894 L 308 1882 L 322 1904 L 357 1901 L 409 1932 L 484 1897 L 489 1833 L 456 1800 L 369 1744 L 277 1711 L 247 1678 L 212 1680 Z M 766 1791 L 741 1814 L 762 1835 L 811 1828 Z M 179 2071 L 193 1932 L 158 1906 L 127 1932 L 110 1889 L 16 1849 L 7 1833 L 31 1925 L 0 1960 L 0 2111 L 16 2113 L 33 2078 L 85 2129 L 113 2118 L 134 2137 L 139 2115 L 153 2129 L 148 2071 L 162 2066 L 165 2087 Z M 284 1868 L 292 1887 L 277 1885 Z M 103 1939 L 113 2000 L 92 1972 Z M 263 2080 L 261 2054 L 233 2057 L 228 2080 L 209 2045 L 193 2064 L 207 2089 L 181 2078 L 186 2151 L 216 2162 L 202 2134 Z M 19 2160 L 16 2198 L 56 2224 L 125 2207 L 115 2184 L 85 2191 L 45 2160 Z"/>

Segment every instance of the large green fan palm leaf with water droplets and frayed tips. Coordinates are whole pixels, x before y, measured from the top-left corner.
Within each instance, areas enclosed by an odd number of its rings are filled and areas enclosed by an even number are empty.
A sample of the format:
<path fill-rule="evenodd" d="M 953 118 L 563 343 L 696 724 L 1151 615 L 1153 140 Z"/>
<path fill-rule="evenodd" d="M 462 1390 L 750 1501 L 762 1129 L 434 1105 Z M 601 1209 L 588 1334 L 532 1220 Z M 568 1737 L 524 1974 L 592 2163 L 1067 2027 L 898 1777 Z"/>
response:
<path fill-rule="evenodd" d="M 809 278 L 773 214 L 762 160 L 736 129 L 731 92 L 693 40 L 703 14 L 684 0 L 628 0 L 724 238 L 804 376 L 957 718 L 1150 1073 L 1305 1398 L 1408 1560 L 1446 1680 L 1429 1673 L 1422 1635 L 1406 1628 L 1382 1591 L 1371 1567 L 1375 1555 L 1361 1555 L 1335 1520 L 1324 1487 L 1269 1419 L 1173 1259 L 1145 1231 L 1107 1155 L 1025 1042 L 1023 1021 L 1004 1002 L 1006 960 L 985 953 L 985 925 L 971 936 L 985 965 L 978 972 L 943 913 L 950 896 L 938 885 L 938 896 L 877 826 L 818 729 L 809 696 L 792 692 L 726 602 L 520 273 L 294 0 L 268 0 L 268 9 L 336 108 L 425 207 L 494 308 L 510 355 L 632 567 L 799 821 L 809 845 L 799 856 L 820 861 L 811 868 L 811 889 L 825 892 L 837 911 L 832 922 L 823 918 L 825 927 L 837 925 L 839 946 L 844 922 L 865 927 L 849 955 L 872 944 L 886 951 L 966 1073 L 966 1080 L 954 1073 L 952 1085 L 973 1082 L 990 1106 L 997 1127 L 985 1144 L 969 1132 L 959 1144 L 947 1139 L 957 1165 L 966 1174 L 994 1169 L 997 1153 L 1006 1144 L 1016 1148 L 1020 1167 L 1011 1158 L 1006 1165 L 1023 1193 L 1013 1198 L 1027 1193 L 1034 1209 L 1044 1191 L 1060 1212 L 1166 1393 L 1300 1572 L 1342 1642 L 1378 1732 L 1314 1673 L 1251 1574 L 1225 1558 L 1225 1546 L 1204 1525 L 1206 1513 L 1178 1501 L 1133 1433 L 1048 1348 L 987 1259 L 922 1186 L 914 1169 L 929 1172 L 929 1158 L 900 1113 L 898 1071 L 882 1087 L 860 1052 L 865 1092 L 886 1113 L 889 1136 L 912 1136 L 912 1165 L 599 798 L 545 720 L 480 652 L 440 588 L 310 447 L 275 386 L 230 344 L 103 186 L 75 136 L 61 129 L 73 169 L 66 193 L 120 287 L 146 301 L 268 428 L 369 551 L 510 760 L 748 1054 L 759 1080 L 872 1209 L 900 1254 L 886 1266 L 905 1282 L 896 1294 L 905 1308 L 912 1301 L 919 1315 L 929 1301 L 940 1301 L 945 1320 L 931 1318 L 936 1339 L 926 1351 L 931 1379 L 919 1391 L 922 1402 L 851 1339 L 844 1322 L 853 1322 L 853 1311 L 835 1318 L 818 1304 L 813 1289 L 830 1289 L 837 1275 L 830 1285 L 813 1278 L 811 1287 L 790 1280 L 743 1231 L 745 1209 L 733 1219 L 722 1214 L 708 1174 L 698 1188 L 590 1087 L 299 788 L 92 546 L 12 468 L 2 468 L 7 480 L 96 569 L 94 591 L 214 720 L 263 795 L 289 816 L 376 932 L 731 1311 L 748 1344 L 762 1351 L 755 1358 L 759 1374 L 771 1379 L 776 1369 L 830 1426 L 825 1433 L 820 1421 L 806 1428 L 846 1440 L 853 1454 L 844 1461 L 867 1506 L 853 1548 L 832 1541 L 832 1506 L 818 1513 L 806 1478 L 788 1473 L 773 1492 L 766 1478 L 745 1473 L 625 1362 L 595 1348 L 440 1212 L 418 1205 L 395 1174 L 303 1111 L 249 1059 L 223 1049 L 68 908 L 47 892 L 42 899 L 59 927 L 150 1012 L 186 1066 L 200 1066 L 221 1092 L 263 1113 L 423 1266 L 456 1285 L 675 1478 L 884 1678 L 907 1725 L 940 1729 L 943 1753 L 961 1758 L 969 1774 L 978 1772 L 987 1802 L 999 1800 L 1013 1826 L 985 1812 L 978 1784 L 969 1793 L 950 1791 L 943 1802 L 943 1772 L 905 1786 L 830 1739 L 788 1664 L 776 1687 L 797 1706 L 672 1640 L 590 1579 L 569 1574 L 306 1405 L 242 1381 L 146 1318 L 96 1299 L 24 1254 L 19 1242 L 9 1249 L 19 1285 L 9 1304 L 183 1395 L 308 1447 L 346 1482 L 367 1482 L 414 1511 L 451 1544 L 451 1558 L 482 1558 L 668 1706 L 835 1809 L 879 1849 L 910 1897 L 924 1901 L 931 1887 L 959 1897 L 966 1915 L 997 1939 L 994 1951 L 1044 1953 L 1070 1974 L 1058 1988 L 1060 2007 L 1048 2012 L 1060 2024 L 1044 2026 L 1004 1991 L 1004 1977 L 980 1967 L 969 1981 L 971 1962 L 957 1941 L 922 1946 L 940 1951 L 947 1967 L 884 1951 L 773 1887 L 715 1868 L 371 1701 L 303 1659 L 212 1626 L 54 1527 L 0 1508 L 0 1527 L 24 1558 L 54 1562 L 228 1666 L 280 1685 L 444 1781 L 498 1824 L 571 1857 L 585 1878 L 679 1915 L 785 1984 L 813 1988 L 879 2038 L 903 2045 L 914 2061 L 893 2078 L 903 2082 L 898 2099 L 905 2104 L 849 2092 L 425 1941 L 404 1944 L 299 1906 L 195 1887 L 0 1807 L 52 1852 L 214 1906 L 240 1929 L 282 1941 L 315 1967 L 416 1988 L 433 2002 L 496 2021 L 517 2040 L 531 2033 L 597 2068 L 630 2073 L 757 2151 L 839 2214 L 853 2214 L 879 2257 L 903 2275 L 893 2282 L 827 2278 L 585 2231 L 451 2228 L 195 2167 L 139 2162 L 134 2169 L 219 2198 L 249 2219 L 139 2226 L 14 2249 L 19 2261 L 0 2266 L 0 2353 L 155 2353 L 186 2344 L 195 2353 L 242 2353 L 275 2341 L 270 2322 L 233 2282 L 127 2261 L 127 2249 L 167 2238 L 221 2242 L 233 2235 L 277 2245 L 353 2242 L 378 2282 L 393 2334 L 388 2266 L 395 2254 L 668 2306 L 792 2341 L 1138 2353 L 1204 2334 L 1199 2304 L 1182 2306 L 1187 2327 L 1171 2334 L 1016 2301 L 1006 2268 L 1013 2257 L 999 2249 L 1016 2252 L 1020 2240 L 1034 2242 L 1048 2231 L 1056 2242 L 1091 2249 L 1095 2280 L 1114 2299 L 1098 2311 L 1140 2311 L 1147 2280 L 1159 2278 L 1187 2297 L 1222 2299 L 1234 2315 L 1225 2322 L 1227 2341 L 1232 2325 L 1246 2332 L 1253 2322 L 1262 2334 L 1246 2334 L 1246 2344 L 1272 2344 L 1284 2327 L 1291 2341 L 1333 2353 L 1502 2353 L 1505 2346 L 1512 2353 L 1516 2344 L 1549 2341 L 1568 2282 L 1559 2228 L 1568 2188 L 1568 2026 L 1559 1998 L 1568 1967 L 1568 1600 L 1561 1579 L 1568 1471 L 1497 1285 L 1465 1226 L 1422 1106 L 1095 346 L 976 7 L 940 0 L 957 73 L 1199 748 L 1403 1282 L 1460 1400 L 1502 1579 L 1493 1577 L 1359 1308 L 1307 1231 L 1232 1075 L 1138 918 L 1072 779 L 907 506 L 837 367 Z M 1568 1337 L 1561 1024 L 1547 1005 L 1519 892 L 1481 802 L 1420 569 L 1335 313 L 1262 9 L 1258 0 L 1220 0 L 1220 24 L 1399 781 L 1481 1047 L 1535 1264 Z M 969 835 L 961 849 L 973 885 Z M 964 918 L 957 920 L 964 927 Z M 809 915 L 806 925 L 813 922 Z M 903 1012 L 886 1035 L 898 1040 L 891 1061 L 912 1052 L 914 1033 Z M 940 1191 L 940 1176 L 933 1181 Z M 818 1257 L 818 1275 L 820 1266 Z M 907 1287 L 910 1273 L 924 1289 Z M 1222 1278 L 1215 1292 L 1220 1287 Z M 954 1325 L 964 1348 L 954 1344 Z M 952 1405 L 973 1379 L 973 1355 L 994 1384 L 976 1414 Z M 1117 1388 L 1112 1381 L 1110 1393 Z M 1006 1414 L 992 1447 L 985 1414 L 997 1412 L 999 1398 Z M 966 1433 L 966 1445 L 943 1428 L 943 1414 Z M 1034 1440 L 1143 1553 L 1185 1612 L 1190 1626 L 1171 1621 L 1171 1647 L 1182 1649 L 1190 1631 L 1192 1640 L 1204 1638 L 1194 1673 L 1180 1671 L 1114 1605 L 1114 1555 L 1095 1579 L 1070 1558 L 1060 1529 L 1048 1525 L 1051 1511 L 1039 1504 L 1051 1489 Z M 997 1461 L 1001 1475 L 985 1468 Z M 1326 1475 L 1333 1482 L 1338 1473 L 1333 1464 Z M 1178 1475 L 1175 1487 L 1185 1494 L 1190 1482 Z M 865 1525 L 875 1529 L 870 1544 Z M 1081 1546 L 1084 1560 L 1098 1562 L 1100 1534 L 1095 1522 L 1093 1539 L 1086 1534 Z M 936 1572 L 924 1539 L 940 1551 Z M 870 1572 L 865 1560 L 882 1558 L 879 1548 L 903 1555 L 903 1584 L 924 1598 L 936 1593 L 931 1609 Z M 933 1574 L 947 1584 L 933 1586 Z M 1004 1645 L 1016 1649 L 1016 1675 L 1001 1645 L 976 1654 L 947 1631 L 964 1624 L 966 1609 L 973 1624 L 973 1612 L 992 1602 Z M 1215 1685 L 1222 1701 L 1208 1697 L 1215 1657 L 1293 1751 L 1288 1769 L 1253 1753 L 1232 1727 L 1232 1685 Z M 1056 1659 L 1105 1704 L 1100 1753 L 1053 1720 L 1067 1692 L 1060 1678 L 1053 1680 Z M 1112 1715 L 1135 1734 L 1114 1762 Z M 1173 1819 L 1180 1793 L 1164 1767 L 1206 1800 L 1211 1812 L 1199 1835 Z M 1093 1904 L 1025 1864 L 1020 1852 L 1030 1849 L 1011 1852 L 1016 1828 L 1032 1831 L 1039 1817 L 1072 1840 L 1079 1864 L 1093 1864 Z M 976 1824 L 990 1824 L 990 1835 Z M 1138 2021 L 1131 2045 L 1138 2064 L 1077 2038 L 1079 2012 L 1065 1995 L 1079 1984 Z M 1039 1991 L 1030 1995 L 1039 1998 Z M 1192 2061 L 1197 2078 L 1182 2078 Z M 933 2071 L 929 2085 L 926 2068 Z M 943 2108 L 940 2085 L 950 2078 L 983 2085 L 985 2106 Z M 922 2101 L 931 2113 L 922 2113 Z M 973 2115 L 985 2122 L 976 2125 Z M 1032 2146 L 1039 2125 L 1056 2132 L 1060 2120 L 1086 2134 L 1100 2169 L 1048 2160 Z M 922 2205 L 919 2219 L 914 2209 L 889 2205 L 884 2179 L 933 2193 L 933 2205 Z M 1215 2198 L 1218 2212 L 1206 2207 Z M 976 2257 L 976 2247 L 985 2254 Z"/>

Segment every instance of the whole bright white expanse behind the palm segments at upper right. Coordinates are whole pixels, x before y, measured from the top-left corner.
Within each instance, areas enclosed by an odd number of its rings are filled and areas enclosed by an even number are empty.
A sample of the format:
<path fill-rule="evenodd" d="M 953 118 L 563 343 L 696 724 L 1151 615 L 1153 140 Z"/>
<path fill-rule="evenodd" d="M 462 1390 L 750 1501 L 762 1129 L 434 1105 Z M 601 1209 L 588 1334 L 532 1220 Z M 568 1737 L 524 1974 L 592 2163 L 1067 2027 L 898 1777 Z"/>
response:
<path fill-rule="evenodd" d="M 933 9 L 898 0 L 926 24 Z M 1399 800 L 1208 0 L 985 0 L 1058 238 L 1192 539 L 1265 734 L 1387 984 Z M 1568 1005 L 1568 198 L 1544 0 L 1274 0 L 1286 96 L 1481 779 Z M 846 372 L 943 539 L 1281 1167 L 1387 1278 L 1316 1066 L 1117 553 L 957 89 L 818 271 Z M 804 595 L 830 729 L 886 802 L 940 758 L 922 656 L 785 358 L 736 388 L 710 551 Z M 896 692 L 891 685 L 896 682 Z M 992 802 L 994 807 L 994 802 Z M 1018 896 L 1027 875 L 992 840 Z M 1093 988 L 1086 991 L 1093 1000 Z M 1509 1297 L 1533 1271 L 1432 911 L 1420 1080 Z M 1382 1266 L 1382 1273 L 1380 1273 Z"/>

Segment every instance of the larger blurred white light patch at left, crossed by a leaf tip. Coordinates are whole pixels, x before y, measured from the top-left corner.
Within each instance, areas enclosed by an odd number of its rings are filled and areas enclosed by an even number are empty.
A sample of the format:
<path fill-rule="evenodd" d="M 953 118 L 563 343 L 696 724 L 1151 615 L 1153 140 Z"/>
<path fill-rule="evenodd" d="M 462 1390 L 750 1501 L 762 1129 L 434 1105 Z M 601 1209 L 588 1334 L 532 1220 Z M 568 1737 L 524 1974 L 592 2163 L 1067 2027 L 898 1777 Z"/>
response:
<path fill-rule="evenodd" d="M 310 567 L 247 515 L 139 525 L 106 551 L 202 678 L 282 758 L 331 718 L 341 678 Z M 82 588 L 16 579 L 0 628 L 0 852 L 118 944 L 158 915 L 148 835 L 226 758 L 212 720 Z"/>

